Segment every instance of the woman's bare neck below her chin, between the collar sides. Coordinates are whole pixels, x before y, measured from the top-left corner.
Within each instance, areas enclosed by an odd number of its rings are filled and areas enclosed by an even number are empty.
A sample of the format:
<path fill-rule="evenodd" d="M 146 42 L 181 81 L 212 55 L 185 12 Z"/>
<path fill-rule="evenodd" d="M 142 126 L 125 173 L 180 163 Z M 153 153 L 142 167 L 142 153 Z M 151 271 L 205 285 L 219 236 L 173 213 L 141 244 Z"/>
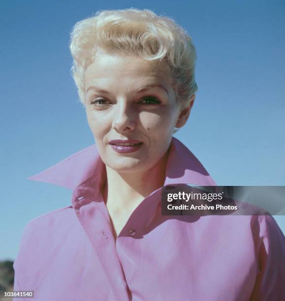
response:
<path fill-rule="evenodd" d="M 107 207 L 127 211 L 162 187 L 167 158 L 168 151 L 151 169 L 135 173 L 119 173 L 106 166 L 107 181 L 103 187 L 103 198 Z"/>

